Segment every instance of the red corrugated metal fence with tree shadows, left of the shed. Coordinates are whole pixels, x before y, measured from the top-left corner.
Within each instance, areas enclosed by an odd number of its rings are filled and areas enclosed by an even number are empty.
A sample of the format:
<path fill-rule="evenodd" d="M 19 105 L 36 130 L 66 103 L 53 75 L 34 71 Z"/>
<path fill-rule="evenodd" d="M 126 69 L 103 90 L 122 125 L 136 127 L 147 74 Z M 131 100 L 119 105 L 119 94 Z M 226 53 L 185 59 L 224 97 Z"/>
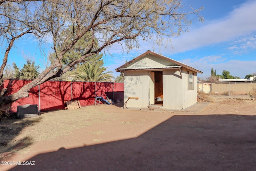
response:
<path fill-rule="evenodd" d="M 10 79 L 5 80 L 1 88 L 8 88 L 8 94 L 17 92 L 31 81 Z M 59 110 L 65 107 L 64 101 L 79 100 L 81 106 L 95 104 L 95 96 L 108 96 L 116 102 L 124 99 L 123 83 L 47 81 L 29 91 L 29 97 L 21 98 L 12 103 L 11 111 L 16 112 L 17 106 L 37 104 L 41 111 Z"/>

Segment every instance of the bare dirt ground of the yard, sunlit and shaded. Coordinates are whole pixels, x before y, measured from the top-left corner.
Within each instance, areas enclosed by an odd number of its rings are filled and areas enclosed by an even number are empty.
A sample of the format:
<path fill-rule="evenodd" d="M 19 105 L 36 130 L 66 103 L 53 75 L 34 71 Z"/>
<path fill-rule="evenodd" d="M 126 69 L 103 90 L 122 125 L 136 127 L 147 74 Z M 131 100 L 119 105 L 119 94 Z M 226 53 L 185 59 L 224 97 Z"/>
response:
<path fill-rule="evenodd" d="M 256 100 L 210 101 L 185 112 L 102 104 L 4 119 L 0 170 L 256 170 Z"/>

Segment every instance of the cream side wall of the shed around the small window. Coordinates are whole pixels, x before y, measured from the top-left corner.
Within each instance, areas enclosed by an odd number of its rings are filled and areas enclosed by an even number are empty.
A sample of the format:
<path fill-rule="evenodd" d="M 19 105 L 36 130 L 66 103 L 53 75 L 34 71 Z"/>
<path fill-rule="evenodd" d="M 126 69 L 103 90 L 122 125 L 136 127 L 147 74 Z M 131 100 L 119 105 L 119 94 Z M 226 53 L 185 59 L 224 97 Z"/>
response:
<path fill-rule="evenodd" d="M 194 89 L 193 90 L 188 90 L 188 77 L 189 75 L 187 74 L 188 70 L 183 69 L 182 71 L 182 87 L 183 87 L 183 109 L 186 109 L 193 104 L 197 103 L 197 85 L 196 85 L 196 73 L 194 73 L 193 80 L 194 80 Z"/>

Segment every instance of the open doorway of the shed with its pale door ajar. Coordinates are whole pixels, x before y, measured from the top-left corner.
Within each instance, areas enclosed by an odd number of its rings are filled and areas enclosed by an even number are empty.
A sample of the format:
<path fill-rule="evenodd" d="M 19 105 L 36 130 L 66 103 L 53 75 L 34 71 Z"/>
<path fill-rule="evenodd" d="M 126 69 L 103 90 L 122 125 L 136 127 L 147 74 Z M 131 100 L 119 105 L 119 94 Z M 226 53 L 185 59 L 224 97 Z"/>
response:
<path fill-rule="evenodd" d="M 163 105 L 163 72 L 151 71 L 149 86 L 149 105 Z"/>

